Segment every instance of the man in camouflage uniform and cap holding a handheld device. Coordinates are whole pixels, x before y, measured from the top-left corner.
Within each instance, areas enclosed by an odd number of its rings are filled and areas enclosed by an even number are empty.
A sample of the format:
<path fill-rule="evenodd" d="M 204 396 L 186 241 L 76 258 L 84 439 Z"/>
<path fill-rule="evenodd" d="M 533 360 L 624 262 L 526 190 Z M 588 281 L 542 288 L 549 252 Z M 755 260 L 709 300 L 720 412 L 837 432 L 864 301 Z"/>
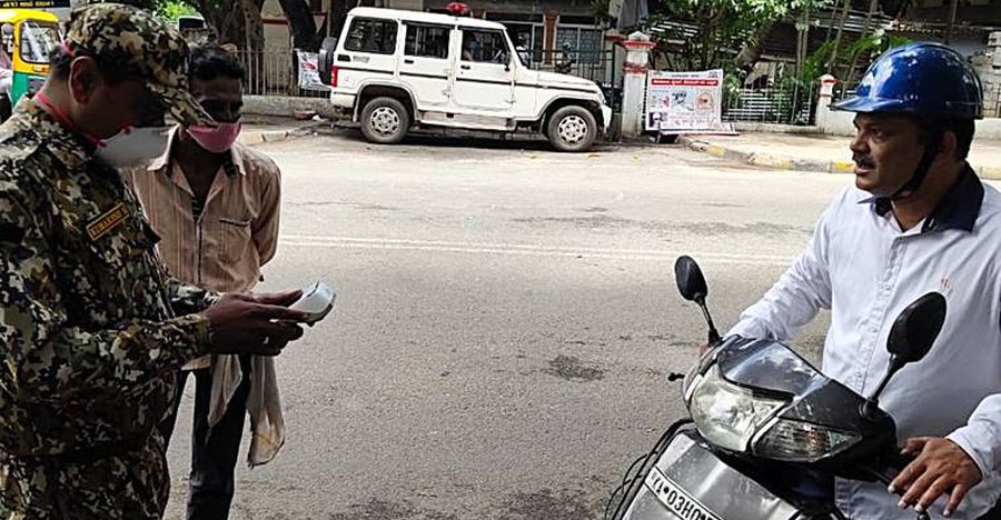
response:
<path fill-rule="evenodd" d="M 0 518 L 160 518 L 155 427 L 181 366 L 277 354 L 305 317 L 286 308 L 298 291 L 219 297 L 170 279 L 135 196 L 96 156 L 168 109 L 212 124 L 177 32 L 99 3 L 73 12 L 57 54 L 0 127 Z"/>

